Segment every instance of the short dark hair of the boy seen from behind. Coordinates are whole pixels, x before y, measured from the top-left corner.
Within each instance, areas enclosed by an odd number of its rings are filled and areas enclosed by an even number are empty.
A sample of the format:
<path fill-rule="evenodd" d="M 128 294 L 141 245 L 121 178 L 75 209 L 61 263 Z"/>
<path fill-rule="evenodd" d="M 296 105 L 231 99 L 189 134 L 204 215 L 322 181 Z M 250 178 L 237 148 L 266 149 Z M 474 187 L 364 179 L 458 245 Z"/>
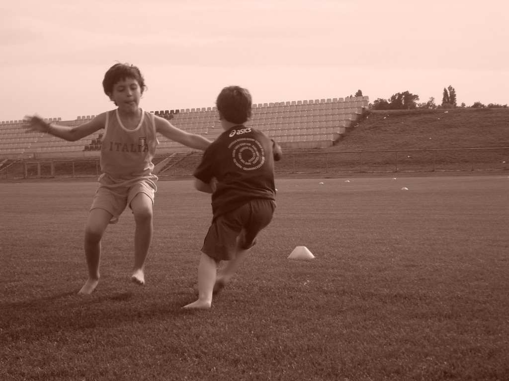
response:
<path fill-rule="evenodd" d="M 251 117 L 251 94 L 240 86 L 224 87 L 217 96 L 216 106 L 225 120 L 243 124 Z"/>

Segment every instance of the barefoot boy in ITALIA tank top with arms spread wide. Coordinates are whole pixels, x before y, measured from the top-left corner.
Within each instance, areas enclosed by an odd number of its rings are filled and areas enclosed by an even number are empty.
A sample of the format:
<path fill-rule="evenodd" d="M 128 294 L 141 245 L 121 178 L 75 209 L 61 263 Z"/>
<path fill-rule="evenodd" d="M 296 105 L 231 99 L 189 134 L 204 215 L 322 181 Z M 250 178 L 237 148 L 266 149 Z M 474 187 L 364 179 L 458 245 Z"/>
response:
<path fill-rule="evenodd" d="M 68 141 L 76 141 L 104 129 L 101 147 L 99 188 L 87 219 L 84 249 L 89 278 L 79 294 L 92 293 L 99 282 L 101 238 L 109 223 L 116 223 L 126 206 L 132 209 L 134 266 L 131 280 L 145 284 L 144 266 L 152 240 L 152 205 L 157 176 L 152 173 L 156 133 L 190 148 L 204 151 L 210 140 L 176 128 L 168 120 L 138 107 L 146 88 L 135 66 L 117 63 L 109 68 L 102 82 L 104 92 L 116 110 L 97 115 L 78 126 L 46 123 L 38 116 L 27 116 L 29 131 L 44 132 Z"/>

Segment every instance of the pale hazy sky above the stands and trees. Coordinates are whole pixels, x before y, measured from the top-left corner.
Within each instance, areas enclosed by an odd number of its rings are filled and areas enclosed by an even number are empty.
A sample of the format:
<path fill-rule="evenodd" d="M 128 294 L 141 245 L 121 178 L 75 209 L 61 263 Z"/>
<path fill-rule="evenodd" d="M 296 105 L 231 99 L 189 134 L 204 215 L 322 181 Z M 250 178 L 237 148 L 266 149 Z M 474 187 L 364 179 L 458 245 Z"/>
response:
<path fill-rule="evenodd" d="M 147 111 L 212 107 L 228 85 L 253 103 L 440 104 L 452 85 L 458 104 L 507 104 L 508 15 L 507 0 L 2 0 L 0 120 L 114 109 L 117 61 L 142 71 Z"/>

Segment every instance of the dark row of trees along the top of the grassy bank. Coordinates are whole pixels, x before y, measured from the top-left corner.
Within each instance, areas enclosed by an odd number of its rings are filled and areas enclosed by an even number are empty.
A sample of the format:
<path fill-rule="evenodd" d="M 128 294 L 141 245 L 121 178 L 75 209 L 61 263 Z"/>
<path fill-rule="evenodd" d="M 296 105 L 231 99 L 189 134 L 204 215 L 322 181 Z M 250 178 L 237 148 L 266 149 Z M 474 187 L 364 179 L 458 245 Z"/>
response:
<path fill-rule="evenodd" d="M 362 96 L 362 91 L 358 90 L 355 93 L 356 97 Z M 397 92 L 389 99 L 378 98 L 373 103 L 369 104 L 371 110 L 413 110 L 413 109 L 451 109 L 451 108 L 507 108 L 507 104 L 499 105 L 497 103 L 489 103 L 484 105 L 479 101 L 474 102 L 471 106 L 462 103 L 460 106 L 457 104 L 456 90 L 453 86 L 449 85 L 444 87 L 442 103 L 437 105 L 435 98 L 431 97 L 428 102 L 417 103 L 419 96 L 412 94 L 410 91 Z"/>

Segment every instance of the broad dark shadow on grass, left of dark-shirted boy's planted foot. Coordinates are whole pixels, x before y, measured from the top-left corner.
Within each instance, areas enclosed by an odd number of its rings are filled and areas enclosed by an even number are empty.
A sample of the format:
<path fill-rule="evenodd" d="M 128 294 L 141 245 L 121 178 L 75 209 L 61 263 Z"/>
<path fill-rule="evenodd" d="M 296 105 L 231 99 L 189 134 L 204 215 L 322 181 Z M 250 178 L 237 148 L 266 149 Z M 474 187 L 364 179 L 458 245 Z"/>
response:
<path fill-rule="evenodd" d="M 9 340 L 38 341 L 54 334 L 94 329 L 108 330 L 130 323 L 151 324 L 174 321 L 192 312 L 182 306 L 189 303 L 188 293 L 146 298 L 144 292 L 122 292 L 109 295 L 78 295 L 65 292 L 44 298 L 5 303 L 0 329 Z M 194 299 L 193 299 L 194 300 Z"/>

